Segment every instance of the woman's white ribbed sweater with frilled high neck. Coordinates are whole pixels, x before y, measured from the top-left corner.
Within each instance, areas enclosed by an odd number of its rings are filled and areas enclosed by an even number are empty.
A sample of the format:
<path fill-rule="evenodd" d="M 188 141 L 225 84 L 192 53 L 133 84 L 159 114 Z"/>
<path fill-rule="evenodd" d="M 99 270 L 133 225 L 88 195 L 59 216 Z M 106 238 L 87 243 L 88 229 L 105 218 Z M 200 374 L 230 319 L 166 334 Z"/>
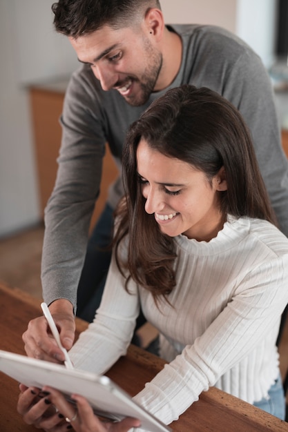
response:
<path fill-rule="evenodd" d="M 229 217 L 210 242 L 175 242 L 173 308 L 163 301 L 159 311 L 134 283 L 126 293 L 113 260 L 96 319 L 70 351 L 76 367 L 107 371 L 126 353 L 141 302 L 170 363 L 135 400 L 165 424 L 209 386 L 250 403 L 265 397 L 279 373 L 276 337 L 288 302 L 288 239 L 269 222 Z"/>

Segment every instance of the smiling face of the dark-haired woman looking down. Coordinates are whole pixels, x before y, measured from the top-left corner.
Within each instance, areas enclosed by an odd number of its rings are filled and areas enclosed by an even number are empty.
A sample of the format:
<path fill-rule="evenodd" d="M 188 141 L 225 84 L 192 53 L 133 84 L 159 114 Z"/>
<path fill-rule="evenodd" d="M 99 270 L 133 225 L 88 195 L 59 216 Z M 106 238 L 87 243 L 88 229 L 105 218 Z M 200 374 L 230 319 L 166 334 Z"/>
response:
<path fill-rule="evenodd" d="M 202 171 L 162 155 L 141 139 L 137 173 L 146 199 L 145 210 L 155 215 L 162 233 L 208 242 L 222 229 L 219 191 L 227 190 L 223 169 L 209 182 Z"/>

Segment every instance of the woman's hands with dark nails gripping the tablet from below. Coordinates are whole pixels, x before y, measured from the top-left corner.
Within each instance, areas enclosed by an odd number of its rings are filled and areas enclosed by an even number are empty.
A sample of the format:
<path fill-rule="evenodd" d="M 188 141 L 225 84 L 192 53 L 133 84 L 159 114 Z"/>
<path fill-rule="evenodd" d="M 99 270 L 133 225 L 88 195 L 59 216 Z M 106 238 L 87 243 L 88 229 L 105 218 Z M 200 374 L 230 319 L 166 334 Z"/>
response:
<path fill-rule="evenodd" d="M 24 422 L 46 432 L 70 429 L 76 432 L 127 432 L 140 426 L 140 421 L 133 418 L 117 423 L 102 422 L 93 413 L 88 401 L 79 395 L 72 396 L 75 404 L 71 404 L 61 392 L 48 386 L 39 390 L 20 384 L 20 390 L 18 413 L 23 416 Z"/>

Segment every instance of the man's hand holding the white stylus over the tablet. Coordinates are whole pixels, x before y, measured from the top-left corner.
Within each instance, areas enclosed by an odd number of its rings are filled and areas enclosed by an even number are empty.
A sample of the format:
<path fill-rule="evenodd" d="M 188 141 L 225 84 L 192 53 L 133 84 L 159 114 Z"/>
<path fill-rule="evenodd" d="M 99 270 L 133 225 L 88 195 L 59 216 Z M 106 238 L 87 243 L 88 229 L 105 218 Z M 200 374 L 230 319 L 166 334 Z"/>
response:
<path fill-rule="evenodd" d="M 73 305 L 66 299 L 55 300 L 49 306 L 50 313 L 60 333 L 61 343 L 69 350 L 75 337 L 75 317 Z M 64 362 L 64 353 L 58 348 L 52 337 L 48 322 L 44 316 L 31 320 L 28 329 L 22 335 L 28 357 L 49 362 Z"/>

